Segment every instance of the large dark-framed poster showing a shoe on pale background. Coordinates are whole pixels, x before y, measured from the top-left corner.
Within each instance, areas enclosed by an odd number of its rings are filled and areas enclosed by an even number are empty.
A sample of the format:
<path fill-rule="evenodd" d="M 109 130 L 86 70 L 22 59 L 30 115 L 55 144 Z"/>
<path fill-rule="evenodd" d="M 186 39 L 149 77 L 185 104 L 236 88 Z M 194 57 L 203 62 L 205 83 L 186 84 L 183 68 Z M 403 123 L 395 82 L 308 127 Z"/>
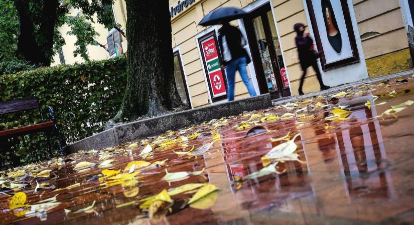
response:
<path fill-rule="evenodd" d="M 355 60 L 355 37 L 346 0 L 307 0 L 321 62 L 338 66 Z M 325 66 L 326 67 L 326 66 Z M 332 66 L 333 67 L 333 66 Z"/>

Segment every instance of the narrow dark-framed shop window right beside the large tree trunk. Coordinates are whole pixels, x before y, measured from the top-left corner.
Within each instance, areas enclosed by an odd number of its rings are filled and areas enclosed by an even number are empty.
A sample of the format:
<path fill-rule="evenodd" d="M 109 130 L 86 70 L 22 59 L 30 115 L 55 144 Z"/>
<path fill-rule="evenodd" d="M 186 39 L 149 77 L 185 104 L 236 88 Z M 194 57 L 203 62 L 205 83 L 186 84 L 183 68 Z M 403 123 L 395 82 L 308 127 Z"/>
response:
<path fill-rule="evenodd" d="M 181 97 L 181 100 L 190 105 L 190 96 L 188 94 L 187 83 L 185 79 L 185 74 L 183 70 L 183 63 L 181 62 L 180 52 L 174 52 L 174 77 L 175 83 L 177 85 L 178 94 Z"/>

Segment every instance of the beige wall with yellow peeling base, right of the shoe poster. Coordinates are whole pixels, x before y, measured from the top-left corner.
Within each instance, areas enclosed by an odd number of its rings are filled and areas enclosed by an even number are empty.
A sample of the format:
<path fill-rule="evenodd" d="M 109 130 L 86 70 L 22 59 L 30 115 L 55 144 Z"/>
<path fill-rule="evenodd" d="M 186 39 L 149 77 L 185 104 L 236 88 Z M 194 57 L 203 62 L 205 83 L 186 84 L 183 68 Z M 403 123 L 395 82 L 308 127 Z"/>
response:
<path fill-rule="evenodd" d="M 352 0 L 370 77 L 412 67 L 398 0 Z"/>

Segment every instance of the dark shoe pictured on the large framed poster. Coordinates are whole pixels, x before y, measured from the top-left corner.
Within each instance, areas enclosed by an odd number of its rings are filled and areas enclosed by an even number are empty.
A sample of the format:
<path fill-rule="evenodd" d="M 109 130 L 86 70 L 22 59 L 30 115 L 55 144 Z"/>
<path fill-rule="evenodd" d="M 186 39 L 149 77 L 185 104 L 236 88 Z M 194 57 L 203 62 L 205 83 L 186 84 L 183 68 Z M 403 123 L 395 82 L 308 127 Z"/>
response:
<path fill-rule="evenodd" d="M 326 34 L 332 48 L 340 53 L 342 50 L 342 37 L 339 31 L 338 23 L 335 18 L 334 10 L 330 0 L 322 0 L 322 13 L 324 16 Z"/>

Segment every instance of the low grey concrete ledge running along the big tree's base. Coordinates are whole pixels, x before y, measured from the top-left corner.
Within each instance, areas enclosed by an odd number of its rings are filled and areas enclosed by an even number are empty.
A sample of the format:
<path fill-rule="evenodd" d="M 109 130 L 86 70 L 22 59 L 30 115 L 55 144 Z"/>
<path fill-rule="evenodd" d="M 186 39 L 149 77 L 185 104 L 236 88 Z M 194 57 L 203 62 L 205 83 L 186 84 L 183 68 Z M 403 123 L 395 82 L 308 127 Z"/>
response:
<path fill-rule="evenodd" d="M 200 124 L 214 118 L 219 119 L 223 116 L 237 115 L 243 111 L 252 111 L 271 106 L 270 94 L 268 93 L 251 98 L 213 104 L 114 126 L 111 129 L 69 144 L 63 149 L 66 153 L 74 153 L 79 150 L 110 147 L 134 139 L 158 135 L 167 130 Z"/>

